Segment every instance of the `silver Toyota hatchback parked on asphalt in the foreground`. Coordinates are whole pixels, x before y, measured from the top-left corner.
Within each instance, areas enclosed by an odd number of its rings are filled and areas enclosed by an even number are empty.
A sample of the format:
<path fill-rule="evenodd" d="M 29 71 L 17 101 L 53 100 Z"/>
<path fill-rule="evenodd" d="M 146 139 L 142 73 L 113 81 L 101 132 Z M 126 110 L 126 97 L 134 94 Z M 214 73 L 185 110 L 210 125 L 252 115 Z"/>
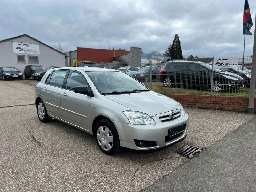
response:
<path fill-rule="evenodd" d="M 187 136 L 182 105 L 118 70 L 63 67 L 46 72 L 35 87 L 41 122 L 57 119 L 95 136 L 99 148 L 155 150 Z"/>

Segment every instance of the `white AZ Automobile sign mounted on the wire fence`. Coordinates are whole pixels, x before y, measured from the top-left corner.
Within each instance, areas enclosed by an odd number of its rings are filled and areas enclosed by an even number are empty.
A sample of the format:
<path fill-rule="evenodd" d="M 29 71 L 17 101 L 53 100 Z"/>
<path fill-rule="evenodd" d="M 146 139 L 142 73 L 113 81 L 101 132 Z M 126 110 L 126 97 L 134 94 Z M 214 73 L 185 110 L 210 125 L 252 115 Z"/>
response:
<path fill-rule="evenodd" d="M 214 57 L 213 68 L 236 68 L 238 57 Z"/>

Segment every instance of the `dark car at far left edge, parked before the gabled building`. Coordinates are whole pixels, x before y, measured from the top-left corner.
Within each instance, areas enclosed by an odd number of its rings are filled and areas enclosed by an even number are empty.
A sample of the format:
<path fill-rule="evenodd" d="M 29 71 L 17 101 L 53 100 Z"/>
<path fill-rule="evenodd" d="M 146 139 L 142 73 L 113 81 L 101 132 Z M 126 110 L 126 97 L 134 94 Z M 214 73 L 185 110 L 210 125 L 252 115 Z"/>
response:
<path fill-rule="evenodd" d="M 6 79 L 20 79 L 22 80 L 22 73 L 15 67 L 0 67 L 0 77 Z"/>

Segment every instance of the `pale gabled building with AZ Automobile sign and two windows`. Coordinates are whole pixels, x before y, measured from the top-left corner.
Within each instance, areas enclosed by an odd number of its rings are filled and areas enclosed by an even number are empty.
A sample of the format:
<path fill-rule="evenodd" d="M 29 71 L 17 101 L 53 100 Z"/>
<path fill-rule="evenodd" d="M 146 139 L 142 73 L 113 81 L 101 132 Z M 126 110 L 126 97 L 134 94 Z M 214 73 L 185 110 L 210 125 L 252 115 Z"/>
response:
<path fill-rule="evenodd" d="M 42 65 L 45 68 L 65 66 L 65 57 L 64 53 L 27 34 L 0 41 L 0 67 L 16 67 L 22 74 L 27 65 Z"/>

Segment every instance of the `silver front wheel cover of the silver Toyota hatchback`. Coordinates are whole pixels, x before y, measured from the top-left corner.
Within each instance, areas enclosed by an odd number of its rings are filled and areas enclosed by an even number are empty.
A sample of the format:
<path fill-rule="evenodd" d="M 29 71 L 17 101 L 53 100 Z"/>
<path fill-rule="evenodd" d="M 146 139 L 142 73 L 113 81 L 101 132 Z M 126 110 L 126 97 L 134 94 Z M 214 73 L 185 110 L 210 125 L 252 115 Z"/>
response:
<path fill-rule="evenodd" d="M 103 150 L 111 150 L 113 147 L 114 139 L 110 129 L 103 125 L 100 126 L 97 130 L 97 141 Z"/>

